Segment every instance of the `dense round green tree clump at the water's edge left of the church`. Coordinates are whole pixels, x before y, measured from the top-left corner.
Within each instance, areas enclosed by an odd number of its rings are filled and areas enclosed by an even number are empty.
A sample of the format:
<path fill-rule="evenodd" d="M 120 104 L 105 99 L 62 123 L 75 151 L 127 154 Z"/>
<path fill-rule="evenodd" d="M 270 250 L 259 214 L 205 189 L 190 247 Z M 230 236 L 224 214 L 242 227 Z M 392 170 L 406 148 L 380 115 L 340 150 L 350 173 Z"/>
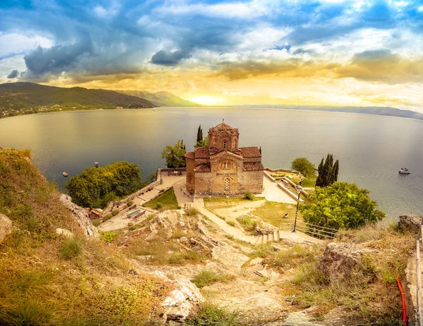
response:
<path fill-rule="evenodd" d="M 130 162 L 113 162 L 89 167 L 66 183 L 74 203 L 82 207 L 105 207 L 111 200 L 133 193 L 144 186 L 141 169 Z"/>

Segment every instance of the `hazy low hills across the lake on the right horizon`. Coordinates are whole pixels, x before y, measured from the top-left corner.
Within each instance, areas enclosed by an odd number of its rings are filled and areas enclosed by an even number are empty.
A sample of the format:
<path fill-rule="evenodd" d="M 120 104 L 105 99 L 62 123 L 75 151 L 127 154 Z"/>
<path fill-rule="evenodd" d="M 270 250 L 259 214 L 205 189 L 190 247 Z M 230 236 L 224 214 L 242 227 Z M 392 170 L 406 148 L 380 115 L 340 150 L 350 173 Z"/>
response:
<path fill-rule="evenodd" d="M 348 112 L 358 114 L 375 114 L 378 116 L 398 116 L 400 118 L 410 118 L 423 120 L 423 114 L 401 110 L 394 107 L 312 107 L 312 106 L 292 106 L 292 105 L 240 105 L 237 107 L 250 107 L 254 109 L 289 109 L 289 110 L 307 110 L 307 111 L 330 111 L 330 112 Z"/>

